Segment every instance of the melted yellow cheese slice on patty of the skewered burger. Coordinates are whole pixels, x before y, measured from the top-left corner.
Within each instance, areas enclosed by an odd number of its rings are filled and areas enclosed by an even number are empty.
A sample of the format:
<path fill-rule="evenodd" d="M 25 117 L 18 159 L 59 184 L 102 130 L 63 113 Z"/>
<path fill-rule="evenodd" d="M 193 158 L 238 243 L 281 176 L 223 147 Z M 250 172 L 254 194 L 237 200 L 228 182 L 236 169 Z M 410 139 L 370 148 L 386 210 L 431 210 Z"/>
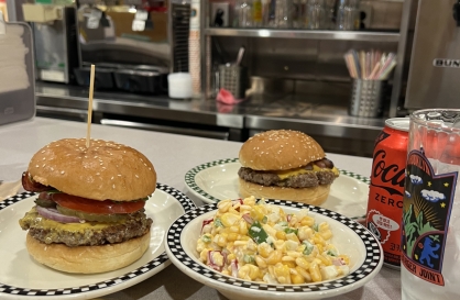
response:
<path fill-rule="evenodd" d="M 39 214 L 35 207 L 33 207 L 21 220 L 20 224 L 30 223 L 31 226 L 36 229 L 51 229 L 67 232 L 85 232 L 86 230 L 100 231 L 109 226 L 113 226 L 119 223 L 102 223 L 102 222 L 85 222 L 85 223 L 61 223 L 54 220 L 45 219 Z"/>

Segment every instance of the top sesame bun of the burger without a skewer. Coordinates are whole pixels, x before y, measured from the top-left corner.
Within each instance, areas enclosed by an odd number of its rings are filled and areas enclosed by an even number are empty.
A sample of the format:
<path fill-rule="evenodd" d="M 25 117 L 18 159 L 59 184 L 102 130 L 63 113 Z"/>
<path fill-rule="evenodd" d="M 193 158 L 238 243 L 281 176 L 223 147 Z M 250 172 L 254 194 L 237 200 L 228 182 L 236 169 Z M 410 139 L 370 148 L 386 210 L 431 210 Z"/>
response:
<path fill-rule="evenodd" d="M 272 130 L 250 137 L 240 149 L 240 164 L 254 170 L 287 170 L 325 158 L 321 146 L 309 135 Z"/>

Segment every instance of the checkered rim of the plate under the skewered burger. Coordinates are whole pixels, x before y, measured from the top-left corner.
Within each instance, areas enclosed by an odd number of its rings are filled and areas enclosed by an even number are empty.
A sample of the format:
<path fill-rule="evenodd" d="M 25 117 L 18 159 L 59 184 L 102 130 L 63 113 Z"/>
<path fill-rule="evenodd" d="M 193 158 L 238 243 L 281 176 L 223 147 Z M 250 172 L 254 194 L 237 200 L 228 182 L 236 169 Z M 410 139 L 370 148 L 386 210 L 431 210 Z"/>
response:
<path fill-rule="evenodd" d="M 195 203 L 183 192 L 179 190 L 163 185 L 156 184 L 156 189 L 162 190 L 171 196 L 173 196 L 184 208 L 185 212 L 196 209 Z M 36 193 L 33 192 L 23 192 L 17 196 L 13 196 L 4 201 L 0 202 L 0 210 L 6 209 L 10 205 L 14 205 L 14 203 L 22 201 L 24 199 L 31 198 Z M 134 278 L 151 273 L 155 268 L 160 267 L 161 265 L 165 264 L 168 260 L 168 257 L 165 252 L 163 252 L 158 257 L 149 262 L 147 264 L 127 273 L 122 276 L 114 277 L 105 281 L 96 282 L 92 285 L 87 286 L 79 286 L 79 287 L 68 287 L 68 288 L 61 288 L 61 289 L 29 289 L 22 287 L 14 287 L 9 285 L 3 285 L 0 282 L 0 299 L 1 293 L 9 293 L 9 295 L 18 295 L 18 296 L 31 296 L 31 297 L 53 297 L 55 296 L 56 299 L 59 299 L 64 296 L 76 296 L 78 293 L 90 292 L 95 290 L 112 288 L 117 285 L 128 284 L 128 281 L 133 280 Z M 73 297 L 75 299 L 75 297 Z"/>

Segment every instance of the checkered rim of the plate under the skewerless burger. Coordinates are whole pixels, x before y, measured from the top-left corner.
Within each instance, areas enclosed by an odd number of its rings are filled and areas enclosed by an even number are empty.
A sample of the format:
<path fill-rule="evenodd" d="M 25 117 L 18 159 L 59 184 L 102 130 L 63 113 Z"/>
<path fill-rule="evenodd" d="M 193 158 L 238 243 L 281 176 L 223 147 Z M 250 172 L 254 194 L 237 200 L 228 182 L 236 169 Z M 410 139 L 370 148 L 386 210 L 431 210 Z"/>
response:
<path fill-rule="evenodd" d="M 233 164 L 233 163 L 239 163 L 240 160 L 238 158 L 226 158 L 226 159 L 219 159 L 219 160 L 213 160 L 213 162 L 209 162 L 202 165 L 199 165 L 190 170 L 188 170 L 185 174 L 185 184 L 193 189 L 194 191 L 196 191 L 197 193 L 201 195 L 202 197 L 215 201 L 215 202 L 219 202 L 221 199 L 218 199 L 209 193 L 207 193 L 206 191 L 204 191 L 200 187 L 198 187 L 197 182 L 196 182 L 196 176 L 198 175 L 198 173 L 200 173 L 201 170 L 205 170 L 207 168 L 211 168 L 215 166 L 220 166 L 220 165 L 224 165 L 224 164 Z M 340 174 L 343 174 L 346 176 L 352 177 L 357 180 L 360 180 L 366 185 L 371 184 L 371 179 L 369 179 L 369 177 L 349 171 L 349 170 L 343 170 L 340 169 Z"/>

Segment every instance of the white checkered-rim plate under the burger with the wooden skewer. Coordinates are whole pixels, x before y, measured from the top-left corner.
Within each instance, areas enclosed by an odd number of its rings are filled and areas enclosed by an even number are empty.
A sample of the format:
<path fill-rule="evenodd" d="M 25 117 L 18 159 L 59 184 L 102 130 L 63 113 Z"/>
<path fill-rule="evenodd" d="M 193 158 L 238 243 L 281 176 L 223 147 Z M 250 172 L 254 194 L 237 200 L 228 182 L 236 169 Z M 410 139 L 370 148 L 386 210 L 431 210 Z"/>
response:
<path fill-rule="evenodd" d="M 19 225 L 33 205 L 35 195 L 24 192 L 0 201 L 0 299 L 20 297 L 54 299 L 90 299 L 112 293 L 145 280 L 169 265 L 164 252 L 164 234 L 185 212 L 195 209 L 193 201 L 180 191 L 156 184 L 156 190 L 145 204 L 152 218 L 147 252 L 122 269 L 75 275 L 57 271 L 33 260 L 25 248 L 26 231 Z"/>

